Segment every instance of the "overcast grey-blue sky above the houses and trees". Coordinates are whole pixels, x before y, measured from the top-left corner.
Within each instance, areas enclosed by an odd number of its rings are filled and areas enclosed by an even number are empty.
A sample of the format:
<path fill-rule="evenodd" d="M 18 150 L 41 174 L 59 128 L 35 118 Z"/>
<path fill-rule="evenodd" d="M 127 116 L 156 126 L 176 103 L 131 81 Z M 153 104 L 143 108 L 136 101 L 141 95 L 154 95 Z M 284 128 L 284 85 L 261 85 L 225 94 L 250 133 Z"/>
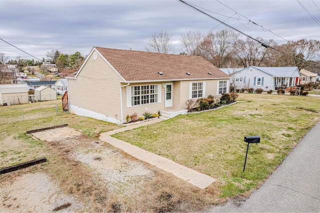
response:
<path fill-rule="evenodd" d="M 320 40 L 319 0 L 186 2 L 252 37 L 279 44 Z M 178 54 L 183 52 L 182 33 L 205 34 L 211 29 L 228 28 L 177 0 L 0 0 L 0 38 L 39 59 L 51 49 L 83 56 L 93 46 L 144 51 L 151 34 L 161 30 L 172 35 Z M 10 59 L 32 58 L 2 40 L 0 52 Z"/>

